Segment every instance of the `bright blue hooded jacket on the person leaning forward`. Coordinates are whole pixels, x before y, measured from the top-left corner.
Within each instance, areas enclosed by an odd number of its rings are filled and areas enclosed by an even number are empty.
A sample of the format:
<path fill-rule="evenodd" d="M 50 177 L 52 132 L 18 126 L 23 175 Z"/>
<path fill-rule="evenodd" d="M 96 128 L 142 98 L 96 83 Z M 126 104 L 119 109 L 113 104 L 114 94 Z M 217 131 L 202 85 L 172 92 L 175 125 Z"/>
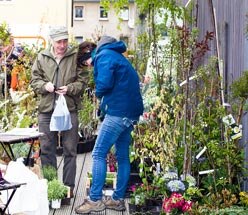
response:
<path fill-rule="evenodd" d="M 125 51 L 122 41 L 98 45 L 93 60 L 96 96 L 104 113 L 138 120 L 144 109 L 139 77 L 122 55 Z"/>

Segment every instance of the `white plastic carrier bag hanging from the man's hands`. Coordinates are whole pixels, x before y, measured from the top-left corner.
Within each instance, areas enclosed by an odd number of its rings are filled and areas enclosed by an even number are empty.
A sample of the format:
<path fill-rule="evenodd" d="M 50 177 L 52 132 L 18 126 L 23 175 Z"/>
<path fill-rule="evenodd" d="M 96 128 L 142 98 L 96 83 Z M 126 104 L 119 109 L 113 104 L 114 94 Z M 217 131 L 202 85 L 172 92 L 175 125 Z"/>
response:
<path fill-rule="evenodd" d="M 66 131 L 70 130 L 71 127 L 71 115 L 66 100 L 65 97 L 60 94 L 51 117 L 50 131 Z"/>

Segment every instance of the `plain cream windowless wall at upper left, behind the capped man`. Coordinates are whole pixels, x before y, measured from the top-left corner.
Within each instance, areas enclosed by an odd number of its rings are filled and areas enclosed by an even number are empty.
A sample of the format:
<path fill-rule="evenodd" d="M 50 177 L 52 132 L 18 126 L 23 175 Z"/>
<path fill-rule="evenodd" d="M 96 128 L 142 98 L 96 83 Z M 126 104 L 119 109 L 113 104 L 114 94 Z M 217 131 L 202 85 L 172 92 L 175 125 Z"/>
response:
<path fill-rule="evenodd" d="M 39 35 L 47 39 L 49 26 L 68 26 L 68 4 L 68 0 L 1 1 L 0 23 L 6 22 L 13 36 Z"/>

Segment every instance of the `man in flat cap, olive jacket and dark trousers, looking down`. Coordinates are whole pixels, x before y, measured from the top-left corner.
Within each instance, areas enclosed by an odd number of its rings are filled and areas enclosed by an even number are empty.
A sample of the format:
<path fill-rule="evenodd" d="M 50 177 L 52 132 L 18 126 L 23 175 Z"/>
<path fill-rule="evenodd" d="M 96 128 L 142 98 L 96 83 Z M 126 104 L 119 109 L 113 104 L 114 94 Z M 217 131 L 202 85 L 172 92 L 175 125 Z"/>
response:
<path fill-rule="evenodd" d="M 85 86 L 85 76 L 77 69 L 77 49 L 68 46 L 68 31 L 65 27 L 55 27 L 50 31 L 51 46 L 41 51 L 32 67 L 31 86 L 40 96 L 38 107 L 41 164 L 57 168 L 56 147 L 58 132 L 50 131 L 49 124 L 59 94 L 65 96 L 71 115 L 72 128 L 62 131 L 64 153 L 63 182 L 70 187 L 73 196 L 76 176 L 76 156 L 78 143 L 78 109 L 80 95 Z"/>

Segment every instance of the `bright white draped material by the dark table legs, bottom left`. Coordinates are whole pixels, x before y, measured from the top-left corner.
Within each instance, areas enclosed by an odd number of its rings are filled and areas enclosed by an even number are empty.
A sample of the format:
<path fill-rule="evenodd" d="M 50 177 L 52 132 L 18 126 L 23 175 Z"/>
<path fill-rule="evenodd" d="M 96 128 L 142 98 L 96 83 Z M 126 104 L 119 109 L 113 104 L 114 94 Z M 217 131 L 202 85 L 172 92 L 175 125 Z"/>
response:
<path fill-rule="evenodd" d="M 10 161 L 4 179 L 20 186 L 8 207 L 8 214 L 48 215 L 47 180 L 39 179 L 21 160 Z M 1 200 L 6 203 L 12 190 L 1 191 Z"/>

